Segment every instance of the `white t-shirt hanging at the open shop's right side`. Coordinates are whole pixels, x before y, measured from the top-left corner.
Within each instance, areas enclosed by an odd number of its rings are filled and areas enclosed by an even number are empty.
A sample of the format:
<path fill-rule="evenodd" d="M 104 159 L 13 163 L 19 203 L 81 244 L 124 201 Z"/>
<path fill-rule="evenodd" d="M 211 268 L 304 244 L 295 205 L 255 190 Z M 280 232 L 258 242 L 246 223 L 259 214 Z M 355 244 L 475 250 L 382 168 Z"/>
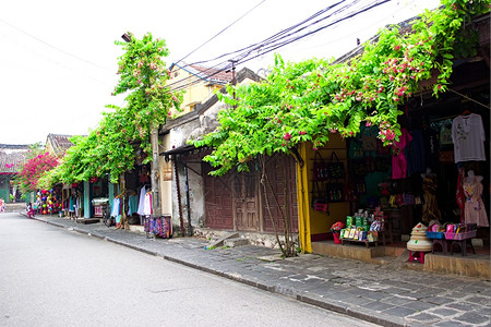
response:
<path fill-rule="evenodd" d="M 484 126 L 477 113 L 458 116 L 452 121 L 455 162 L 486 161 Z"/>

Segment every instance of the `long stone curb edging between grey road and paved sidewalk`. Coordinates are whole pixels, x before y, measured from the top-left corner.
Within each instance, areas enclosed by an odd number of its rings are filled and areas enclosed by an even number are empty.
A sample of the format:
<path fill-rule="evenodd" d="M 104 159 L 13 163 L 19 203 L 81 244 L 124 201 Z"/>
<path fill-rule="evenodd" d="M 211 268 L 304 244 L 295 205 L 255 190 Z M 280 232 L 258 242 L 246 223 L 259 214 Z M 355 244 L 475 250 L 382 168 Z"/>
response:
<path fill-rule="evenodd" d="M 23 214 L 22 211 L 19 213 L 21 216 L 24 216 L 26 218 L 28 218 L 28 216 L 26 214 Z M 142 253 L 145 254 L 149 254 L 149 255 L 154 255 L 154 256 L 158 256 L 161 257 L 168 262 L 172 262 L 182 266 L 187 266 L 196 270 L 201 270 L 203 272 L 208 272 L 215 276 L 219 276 L 219 277 L 224 277 L 227 278 L 229 280 L 233 280 L 250 287 L 254 287 L 258 288 L 260 290 L 263 291 L 268 291 L 272 293 L 276 293 L 276 294 L 280 294 L 284 296 L 288 296 L 290 299 L 295 299 L 299 302 L 302 303 L 307 303 L 313 306 L 318 306 L 320 308 L 324 308 L 324 310 L 328 310 L 335 313 L 339 313 L 339 314 L 344 314 L 346 316 L 350 316 L 360 320 L 364 320 L 364 322 L 369 322 L 369 323 L 373 323 L 373 324 L 378 324 L 381 326 L 387 326 L 387 327 L 405 327 L 407 326 L 407 324 L 405 323 L 404 318 L 398 318 L 398 317 L 394 317 L 394 316 L 388 316 L 382 313 L 376 313 L 376 312 L 372 312 L 370 310 L 367 310 L 364 307 L 360 307 L 360 306 L 346 306 L 343 304 L 336 304 L 336 303 L 330 303 L 330 302 L 325 302 L 322 300 L 321 296 L 319 295 L 306 295 L 306 294 L 301 294 L 299 293 L 297 290 L 289 288 L 289 287 L 283 287 L 280 284 L 268 284 L 266 281 L 264 280 L 252 280 L 252 279 L 248 279 L 242 277 L 239 274 L 236 272 L 230 272 L 230 271 L 220 271 L 214 268 L 209 268 L 209 267 L 205 267 L 195 263 L 191 263 L 184 259 L 180 259 L 173 256 L 169 256 L 166 254 L 159 254 L 157 251 L 151 251 L 151 250 L 146 250 L 142 246 L 137 246 L 134 244 L 130 244 L 127 242 L 122 242 L 116 239 L 112 239 L 110 237 L 104 237 L 97 233 L 92 233 L 88 232 L 86 230 L 80 229 L 80 228 L 72 228 L 72 227 L 65 227 L 64 225 L 61 223 L 57 223 L 55 221 L 49 221 L 49 220 L 45 220 L 45 219 L 40 219 L 37 217 L 33 217 L 31 219 L 35 219 L 37 221 L 41 221 L 41 222 L 46 222 L 49 223 L 51 226 L 55 227 L 60 227 L 70 231 L 75 231 L 77 233 L 82 233 L 82 234 L 86 234 L 89 237 L 94 237 L 100 240 L 105 240 L 107 242 L 111 242 L 113 244 L 118 244 L 118 245 L 122 245 L 135 251 L 140 251 Z"/>

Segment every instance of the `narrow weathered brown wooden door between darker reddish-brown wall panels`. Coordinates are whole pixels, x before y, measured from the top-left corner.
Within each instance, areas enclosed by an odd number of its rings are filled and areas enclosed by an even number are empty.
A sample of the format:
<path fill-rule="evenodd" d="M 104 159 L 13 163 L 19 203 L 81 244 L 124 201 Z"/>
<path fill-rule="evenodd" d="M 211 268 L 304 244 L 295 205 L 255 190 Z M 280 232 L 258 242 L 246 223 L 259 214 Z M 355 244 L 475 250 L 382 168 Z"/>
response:
<path fill-rule="evenodd" d="M 233 204 L 235 229 L 258 231 L 258 181 L 254 170 L 233 174 Z"/>

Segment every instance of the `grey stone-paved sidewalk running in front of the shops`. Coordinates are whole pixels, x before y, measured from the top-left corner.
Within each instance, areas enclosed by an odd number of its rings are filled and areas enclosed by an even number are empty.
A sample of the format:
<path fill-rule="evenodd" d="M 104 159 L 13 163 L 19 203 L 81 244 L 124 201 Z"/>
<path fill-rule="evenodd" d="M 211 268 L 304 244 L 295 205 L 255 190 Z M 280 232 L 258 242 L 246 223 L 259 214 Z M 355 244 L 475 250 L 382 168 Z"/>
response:
<path fill-rule="evenodd" d="M 279 251 L 205 250 L 207 242 L 195 238 L 154 240 L 103 223 L 35 219 L 383 326 L 491 326 L 489 280 L 314 254 L 266 261 L 260 257 L 279 257 Z"/>

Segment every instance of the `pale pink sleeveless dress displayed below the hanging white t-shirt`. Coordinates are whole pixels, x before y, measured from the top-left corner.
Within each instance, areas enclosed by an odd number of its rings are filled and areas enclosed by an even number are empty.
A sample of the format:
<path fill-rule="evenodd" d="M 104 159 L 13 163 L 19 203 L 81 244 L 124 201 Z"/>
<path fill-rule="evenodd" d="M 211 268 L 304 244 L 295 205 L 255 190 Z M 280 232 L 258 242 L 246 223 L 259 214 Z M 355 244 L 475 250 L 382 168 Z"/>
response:
<path fill-rule="evenodd" d="M 479 227 L 489 227 L 488 214 L 482 203 L 482 183 L 475 177 L 470 182 L 464 182 L 466 195 L 465 218 L 466 223 L 477 223 Z"/>

